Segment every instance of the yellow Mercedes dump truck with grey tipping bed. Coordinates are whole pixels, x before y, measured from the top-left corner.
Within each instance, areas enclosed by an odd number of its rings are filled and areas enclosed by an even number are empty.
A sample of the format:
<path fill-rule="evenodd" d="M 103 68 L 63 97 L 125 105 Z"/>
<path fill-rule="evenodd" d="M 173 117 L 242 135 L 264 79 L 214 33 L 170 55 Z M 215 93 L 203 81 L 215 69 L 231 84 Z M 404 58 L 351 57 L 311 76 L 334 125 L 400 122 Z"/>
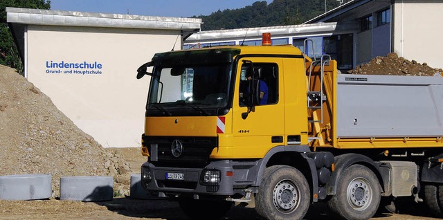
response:
<path fill-rule="evenodd" d="M 398 198 L 442 214 L 443 77 L 339 74 L 328 55 L 269 39 L 138 69 L 151 77 L 143 187 L 197 219 L 253 199 L 266 219 L 302 219 L 316 202 L 370 219 Z"/>

